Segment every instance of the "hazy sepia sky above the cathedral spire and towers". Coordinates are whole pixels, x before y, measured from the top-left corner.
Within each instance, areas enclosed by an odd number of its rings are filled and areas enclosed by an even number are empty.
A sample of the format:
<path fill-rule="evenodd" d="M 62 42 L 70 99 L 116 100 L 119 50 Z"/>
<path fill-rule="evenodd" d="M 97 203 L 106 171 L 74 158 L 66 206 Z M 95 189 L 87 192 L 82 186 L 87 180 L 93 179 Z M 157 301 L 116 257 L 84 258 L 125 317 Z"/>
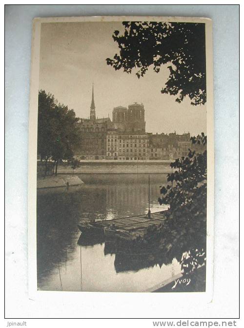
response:
<path fill-rule="evenodd" d="M 143 103 L 146 132 L 206 133 L 206 106 L 181 104 L 175 96 L 161 94 L 167 81 L 167 65 L 159 73 L 149 69 L 140 79 L 106 64 L 119 49 L 112 39 L 122 23 L 42 23 L 40 87 L 59 102 L 73 108 L 79 117 L 90 115 L 92 82 L 96 115 L 112 119 L 117 106 Z"/>

